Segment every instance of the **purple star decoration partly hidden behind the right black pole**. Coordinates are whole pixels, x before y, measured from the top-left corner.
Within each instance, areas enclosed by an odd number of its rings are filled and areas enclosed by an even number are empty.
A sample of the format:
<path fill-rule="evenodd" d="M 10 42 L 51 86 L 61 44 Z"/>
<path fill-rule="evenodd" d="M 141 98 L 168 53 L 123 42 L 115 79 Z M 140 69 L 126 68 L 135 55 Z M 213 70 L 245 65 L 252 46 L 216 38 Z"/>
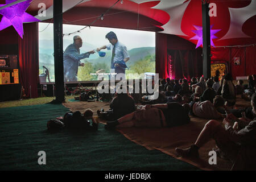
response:
<path fill-rule="evenodd" d="M 203 27 L 200 26 L 195 26 L 193 25 L 196 30 L 191 30 L 192 32 L 194 32 L 196 35 L 193 36 L 190 40 L 198 40 L 197 41 L 197 45 L 196 48 L 203 45 Z M 221 29 L 218 30 L 212 30 L 213 25 L 210 26 L 210 45 L 214 46 L 212 39 L 216 39 L 217 36 L 215 36 L 214 34 L 216 34 L 218 31 L 220 31 Z"/>

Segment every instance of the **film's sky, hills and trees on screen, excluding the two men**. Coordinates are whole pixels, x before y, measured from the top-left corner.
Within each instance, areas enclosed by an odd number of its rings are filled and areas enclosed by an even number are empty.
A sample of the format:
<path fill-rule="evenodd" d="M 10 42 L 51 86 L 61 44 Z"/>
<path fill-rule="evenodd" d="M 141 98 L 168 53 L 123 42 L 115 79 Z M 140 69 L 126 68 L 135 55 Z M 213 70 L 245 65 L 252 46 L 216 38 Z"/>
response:
<path fill-rule="evenodd" d="M 63 24 L 63 34 L 76 32 L 84 26 Z M 48 69 L 49 79 L 46 82 L 54 82 L 54 57 L 53 57 L 53 24 L 39 23 L 39 75 L 43 75 Z M 80 53 L 96 50 L 102 46 L 109 46 L 110 42 L 105 38 L 108 32 L 113 31 L 118 42 L 126 47 L 130 59 L 126 62 L 126 79 L 145 78 L 143 75 L 155 73 L 155 32 L 127 30 L 121 28 L 87 27 L 77 34 L 63 37 L 63 51 L 73 44 L 73 37 L 78 35 L 82 39 Z M 96 81 L 98 75 L 104 75 L 104 80 L 109 78 L 110 64 L 112 61 L 112 49 L 102 49 L 105 56 L 101 57 L 98 52 L 81 59 L 78 66 L 77 82 Z M 72 61 L 72 60 L 69 60 Z M 65 72 L 65 71 L 64 71 Z M 76 74 L 76 73 L 75 73 Z M 73 81 L 73 80 L 68 80 Z"/>

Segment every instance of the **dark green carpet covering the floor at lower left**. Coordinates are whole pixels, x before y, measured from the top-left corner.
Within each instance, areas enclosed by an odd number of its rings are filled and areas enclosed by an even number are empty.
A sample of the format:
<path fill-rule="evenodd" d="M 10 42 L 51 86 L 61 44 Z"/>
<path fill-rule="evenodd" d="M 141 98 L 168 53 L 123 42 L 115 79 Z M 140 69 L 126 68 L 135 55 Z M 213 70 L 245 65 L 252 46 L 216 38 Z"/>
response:
<path fill-rule="evenodd" d="M 199 170 L 102 124 L 95 133 L 49 133 L 46 122 L 67 111 L 51 104 L 0 109 L 0 170 Z M 46 165 L 38 164 L 39 151 Z"/>

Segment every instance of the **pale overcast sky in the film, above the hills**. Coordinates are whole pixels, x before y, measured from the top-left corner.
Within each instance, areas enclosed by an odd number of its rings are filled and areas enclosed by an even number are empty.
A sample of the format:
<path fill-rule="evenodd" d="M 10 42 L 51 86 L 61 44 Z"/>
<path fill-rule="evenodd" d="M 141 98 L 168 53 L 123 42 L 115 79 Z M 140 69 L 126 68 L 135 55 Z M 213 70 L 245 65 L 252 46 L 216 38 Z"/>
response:
<path fill-rule="evenodd" d="M 39 40 L 52 40 L 53 41 L 53 23 L 39 23 Z M 47 27 L 47 28 L 46 28 Z M 77 26 L 71 24 L 63 24 L 63 34 L 69 34 L 80 30 L 85 26 Z M 46 28 L 46 30 L 44 30 Z M 43 32 L 40 32 L 44 30 Z M 119 42 L 125 44 L 128 50 L 137 47 L 155 47 L 155 32 L 149 31 L 137 31 L 137 30 L 127 30 L 121 28 L 103 28 L 103 27 L 87 27 L 75 35 L 79 35 L 82 41 L 86 43 L 93 44 L 97 47 L 109 44 L 108 39 L 105 38 L 108 32 L 113 31 L 117 35 Z M 70 40 L 73 43 L 73 36 L 64 36 L 63 39 Z"/>

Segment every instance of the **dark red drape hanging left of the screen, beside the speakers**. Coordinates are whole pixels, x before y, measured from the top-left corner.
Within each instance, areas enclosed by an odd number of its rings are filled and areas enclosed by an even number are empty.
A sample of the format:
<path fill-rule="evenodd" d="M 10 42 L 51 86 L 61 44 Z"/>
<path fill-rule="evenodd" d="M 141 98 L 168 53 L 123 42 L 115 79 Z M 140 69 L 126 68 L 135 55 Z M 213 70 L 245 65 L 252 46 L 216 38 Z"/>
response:
<path fill-rule="evenodd" d="M 28 96 L 31 86 L 31 97 L 35 98 L 39 82 L 38 23 L 25 23 L 23 28 L 23 39 L 18 38 L 20 82 Z"/>

